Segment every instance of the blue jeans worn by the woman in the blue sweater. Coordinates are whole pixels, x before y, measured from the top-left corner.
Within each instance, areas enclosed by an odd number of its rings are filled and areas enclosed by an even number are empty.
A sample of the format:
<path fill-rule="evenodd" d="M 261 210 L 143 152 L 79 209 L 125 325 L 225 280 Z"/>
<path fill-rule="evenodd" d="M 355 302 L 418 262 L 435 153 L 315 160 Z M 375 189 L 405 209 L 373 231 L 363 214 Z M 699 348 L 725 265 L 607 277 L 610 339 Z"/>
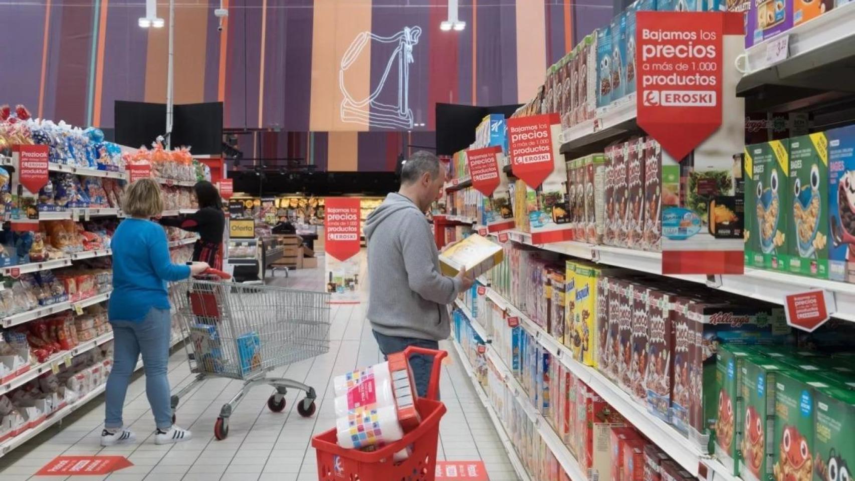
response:
<path fill-rule="evenodd" d="M 107 379 L 107 413 L 104 427 L 118 429 L 123 425 L 121 410 L 125 405 L 127 384 L 143 355 L 145 395 L 155 415 L 157 429 L 172 425 L 169 404 L 169 342 L 172 337 L 172 316 L 169 309 L 150 308 L 143 320 L 110 320 L 113 325 L 113 371 Z"/>

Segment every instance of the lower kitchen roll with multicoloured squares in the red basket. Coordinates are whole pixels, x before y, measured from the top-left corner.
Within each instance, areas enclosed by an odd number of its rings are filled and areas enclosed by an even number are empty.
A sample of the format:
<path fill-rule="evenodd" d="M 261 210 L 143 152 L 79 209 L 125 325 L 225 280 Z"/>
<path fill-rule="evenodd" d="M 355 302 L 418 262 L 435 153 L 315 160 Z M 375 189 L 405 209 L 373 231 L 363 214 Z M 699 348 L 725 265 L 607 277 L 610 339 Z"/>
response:
<path fill-rule="evenodd" d="M 336 419 L 339 446 L 345 449 L 365 448 L 379 443 L 394 443 L 404 437 L 398 424 L 395 406 L 356 409 Z"/>

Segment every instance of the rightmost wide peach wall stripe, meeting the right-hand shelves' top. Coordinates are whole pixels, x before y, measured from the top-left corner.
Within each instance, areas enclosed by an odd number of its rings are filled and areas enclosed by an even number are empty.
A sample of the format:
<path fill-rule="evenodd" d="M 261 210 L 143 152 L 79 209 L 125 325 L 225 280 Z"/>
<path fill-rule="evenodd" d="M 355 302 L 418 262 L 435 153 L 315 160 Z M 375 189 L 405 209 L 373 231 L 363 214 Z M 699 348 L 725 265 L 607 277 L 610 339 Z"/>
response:
<path fill-rule="evenodd" d="M 526 103 L 543 84 L 546 70 L 546 12 L 532 3 L 516 3 L 516 95 Z"/>

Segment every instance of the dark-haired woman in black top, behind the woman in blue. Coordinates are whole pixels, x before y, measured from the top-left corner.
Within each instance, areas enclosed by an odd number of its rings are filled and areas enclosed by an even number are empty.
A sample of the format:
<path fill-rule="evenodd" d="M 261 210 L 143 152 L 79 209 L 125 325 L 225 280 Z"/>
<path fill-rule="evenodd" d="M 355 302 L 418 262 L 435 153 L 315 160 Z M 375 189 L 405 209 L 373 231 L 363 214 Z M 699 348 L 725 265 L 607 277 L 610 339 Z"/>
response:
<path fill-rule="evenodd" d="M 199 238 L 193 245 L 193 261 L 207 262 L 214 269 L 222 269 L 222 235 L 226 228 L 226 214 L 222 211 L 220 192 L 207 180 L 193 186 L 199 203 L 195 214 L 163 217 L 162 226 L 178 227 L 185 231 L 198 232 Z"/>

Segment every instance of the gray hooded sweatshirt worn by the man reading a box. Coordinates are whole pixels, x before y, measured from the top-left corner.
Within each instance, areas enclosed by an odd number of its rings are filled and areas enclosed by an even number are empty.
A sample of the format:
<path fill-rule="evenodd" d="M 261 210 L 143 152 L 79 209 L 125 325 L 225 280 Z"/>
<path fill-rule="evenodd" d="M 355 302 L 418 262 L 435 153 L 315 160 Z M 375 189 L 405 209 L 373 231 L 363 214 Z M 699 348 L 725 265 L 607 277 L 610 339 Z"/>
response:
<path fill-rule="evenodd" d="M 439 251 L 425 214 L 393 192 L 365 220 L 365 240 L 374 331 L 434 341 L 448 337 L 448 304 L 460 283 L 439 272 Z"/>

